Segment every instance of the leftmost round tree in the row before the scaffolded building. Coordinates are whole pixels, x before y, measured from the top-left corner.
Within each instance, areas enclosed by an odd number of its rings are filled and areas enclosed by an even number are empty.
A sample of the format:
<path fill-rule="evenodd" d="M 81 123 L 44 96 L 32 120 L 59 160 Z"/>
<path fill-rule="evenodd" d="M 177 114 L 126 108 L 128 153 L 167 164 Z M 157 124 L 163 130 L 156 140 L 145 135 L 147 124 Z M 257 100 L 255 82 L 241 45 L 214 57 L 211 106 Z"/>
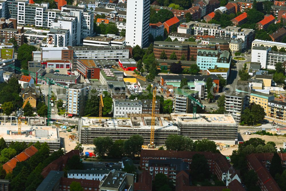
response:
<path fill-rule="evenodd" d="M 94 153 L 103 157 L 104 155 L 107 155 L 112 148 L 113 140 L 110 137 L 97 137 L 94 138 L 93 144 L 96 146 L 94 148 Z"/>

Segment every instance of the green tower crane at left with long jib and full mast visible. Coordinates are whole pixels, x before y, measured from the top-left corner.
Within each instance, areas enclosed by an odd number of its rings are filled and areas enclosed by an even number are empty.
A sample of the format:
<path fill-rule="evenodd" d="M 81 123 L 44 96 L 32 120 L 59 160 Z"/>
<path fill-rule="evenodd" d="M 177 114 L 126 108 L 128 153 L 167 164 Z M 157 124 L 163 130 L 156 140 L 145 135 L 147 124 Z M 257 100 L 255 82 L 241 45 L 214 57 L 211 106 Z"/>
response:
<path fill-rule="evenodd" d="M 58 85 L 58 86 L 61 86 L 65 89 L 68 89 L 68 87 L 65 85 L 62 85 L 60 83 L 57 83 L 56 81 L 53 81 L 49 78 L 45 78 L 45 77 L 42 77 L 41 75 L 37 75 L 37 73 L 29 72 L 27 70 L 23 70 L 21 68 L 11 66 L 11 65 L 9 65 L 9 67 L 11 67 L 12 69 L 15 69 L 17 71 L 23 72 L 25 74 L 28 74 L 29 76 L 33 77 L 36 82 L 38 81 L 38 79 L 41 79 L 41 80 L 45 81 L 46 84 L 49 85 L 49 88 L 48 88 L 48 113 L 47 113 L 47 125 L 49 126 L 50 121 L 51 121 L 51 91 L 52 91 L 51 85 Z"/>

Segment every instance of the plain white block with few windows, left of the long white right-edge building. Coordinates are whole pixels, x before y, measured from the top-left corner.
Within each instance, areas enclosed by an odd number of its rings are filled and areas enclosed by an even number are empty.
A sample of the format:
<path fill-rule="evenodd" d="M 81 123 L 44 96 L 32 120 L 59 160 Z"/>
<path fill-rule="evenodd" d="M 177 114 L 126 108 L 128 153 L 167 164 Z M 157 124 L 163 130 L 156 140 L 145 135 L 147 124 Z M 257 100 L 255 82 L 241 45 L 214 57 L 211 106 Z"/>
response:
<path fill-rule="evenodd" d="M 251 62 L 259 62 L 261 68 L 267 68 L 267 54 L 271 48 L 264 46 L 253 46 L 251 50 Z"/>

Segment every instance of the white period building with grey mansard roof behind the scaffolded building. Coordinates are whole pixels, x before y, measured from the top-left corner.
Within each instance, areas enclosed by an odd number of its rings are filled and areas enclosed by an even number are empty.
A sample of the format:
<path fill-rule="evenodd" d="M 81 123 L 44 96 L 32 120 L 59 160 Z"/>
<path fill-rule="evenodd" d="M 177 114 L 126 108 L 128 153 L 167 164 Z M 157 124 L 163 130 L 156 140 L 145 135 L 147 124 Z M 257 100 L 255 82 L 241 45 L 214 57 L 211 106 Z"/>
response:
<path fill-rule="evenodd" d="M 114 100 L 113 117 L 127 117 L 128 113 L 142 114 L 142 102 L 140 100 Z"/>

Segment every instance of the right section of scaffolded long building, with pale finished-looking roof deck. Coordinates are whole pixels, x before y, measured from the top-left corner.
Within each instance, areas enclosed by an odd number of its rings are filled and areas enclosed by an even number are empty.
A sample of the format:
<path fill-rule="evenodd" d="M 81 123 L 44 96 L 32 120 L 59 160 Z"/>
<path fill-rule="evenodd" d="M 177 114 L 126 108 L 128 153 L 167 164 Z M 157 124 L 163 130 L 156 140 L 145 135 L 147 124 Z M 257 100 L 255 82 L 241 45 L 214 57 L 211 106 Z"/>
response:
<path fill-rule="evenodd" d="M 238 125 L 230 114 L 171 114 L 180 134 L 191 139 L 208 139 L 216 143 L 237 144 Z"/>

